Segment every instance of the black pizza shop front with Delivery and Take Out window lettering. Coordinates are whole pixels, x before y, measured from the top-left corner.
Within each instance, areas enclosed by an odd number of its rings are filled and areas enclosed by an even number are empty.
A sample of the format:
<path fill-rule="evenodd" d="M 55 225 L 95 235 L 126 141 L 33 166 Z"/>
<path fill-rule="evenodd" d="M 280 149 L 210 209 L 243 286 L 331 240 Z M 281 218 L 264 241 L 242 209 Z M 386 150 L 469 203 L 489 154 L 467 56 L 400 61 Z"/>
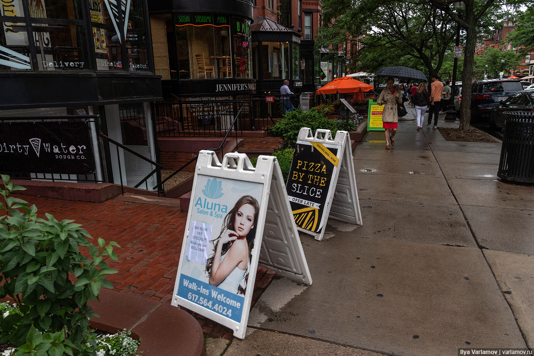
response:
<path fill-rule="evenodd" d="M 115 150 L 99 133 L 156 160 L 150 103 L 162 96 L 146 0 L 0 1 L 3 143 L 9 148 L 13 140 L 27 141 L 25 131 L 33 133 L 33 150 L 0 151 L 3 171 L 35 179 L 135 185 L 153 167 L 135 154 Z M 86 114 L 98 116 L 73 116 Z M 81 122 L 77 130 L 75 122 Z M 54 130 L 75 135 L 71 141 L 87 139 L 88 152 L 80 154 L 74 143 L 65 145 L 61 140 L 66 136 Z M 45 145 L 47 140 L 52 146 Z M 17 161 L 22 164 L 6 165 Z M 155 175 L 149 185 L 156 185 Z"/>

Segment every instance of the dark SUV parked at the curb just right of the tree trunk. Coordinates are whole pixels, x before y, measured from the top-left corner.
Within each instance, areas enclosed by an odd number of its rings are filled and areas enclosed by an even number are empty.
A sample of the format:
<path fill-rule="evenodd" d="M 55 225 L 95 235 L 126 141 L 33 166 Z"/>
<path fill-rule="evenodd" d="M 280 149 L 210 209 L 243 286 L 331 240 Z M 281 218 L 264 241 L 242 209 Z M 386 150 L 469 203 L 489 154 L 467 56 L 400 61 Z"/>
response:
<path fill-rule="evenodd" d="M 516 79 L 488 79 L 473 83 L 471 97 L 471 122 L 487 122 L 490 110 L 517 91 L 523 90 Z"/>

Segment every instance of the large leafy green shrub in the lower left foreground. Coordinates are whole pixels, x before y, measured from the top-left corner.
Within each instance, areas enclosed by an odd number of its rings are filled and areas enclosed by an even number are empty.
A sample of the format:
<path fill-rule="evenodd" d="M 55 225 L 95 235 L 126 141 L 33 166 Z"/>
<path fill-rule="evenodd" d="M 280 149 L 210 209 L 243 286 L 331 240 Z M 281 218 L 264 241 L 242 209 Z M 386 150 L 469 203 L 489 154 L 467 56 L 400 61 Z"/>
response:
<path fill-rule="evenodd" d="M 37 218 L 35 205 L 9 196 L 25 188 L 14 185 L 7 175 L 1 177 L 5 204 L 0 202 L 0 211 L 5 215 L 0 216 L 0 298 L 13 298 L 20 313 L 0 320 L 0 343 L 23 345 L 28 353 L 39 349 L 94 355 L 85 343 L 89 318 L 95 315 L 87 302 L 98 296 L 101 287 L 113 288 L 105 276 L 116 271 L 103 257 L 116 260 L 113 246 L 119 245 L 106 245 L 103 238 L 98 247 L 92 245 L 88 241 L 92 237 L 74 220 L 58 221 L 51 214 Z M 92 259 L 82 255 L 81 247 Z"/>

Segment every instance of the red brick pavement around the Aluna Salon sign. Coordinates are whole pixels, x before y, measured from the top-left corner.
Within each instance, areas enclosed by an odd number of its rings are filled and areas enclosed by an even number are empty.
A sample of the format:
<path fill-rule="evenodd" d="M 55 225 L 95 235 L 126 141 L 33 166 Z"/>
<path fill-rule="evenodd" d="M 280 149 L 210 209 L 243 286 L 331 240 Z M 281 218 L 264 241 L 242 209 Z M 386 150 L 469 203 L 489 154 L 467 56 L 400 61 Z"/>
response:
<path fill-rule="evenodd" d="M 15 196 L 15 195 L 13 195 Z M 54 215 L 83 225 L 96 245 L 99 237 L 115 241 L 118 261 L 107 259 L 118 271 L 108 276 L 116 291 L 170 303 L 176 279 L 187 213 L 177 207 L 108 200 L 104 203 L 70 202 L 44 197 L 17 196 L 37 206 L 38 216 Z M 276 272 L 258 268 L 252 306 Z M 195 313 L 211 337 L 232 338 L 232 330 Z"/>

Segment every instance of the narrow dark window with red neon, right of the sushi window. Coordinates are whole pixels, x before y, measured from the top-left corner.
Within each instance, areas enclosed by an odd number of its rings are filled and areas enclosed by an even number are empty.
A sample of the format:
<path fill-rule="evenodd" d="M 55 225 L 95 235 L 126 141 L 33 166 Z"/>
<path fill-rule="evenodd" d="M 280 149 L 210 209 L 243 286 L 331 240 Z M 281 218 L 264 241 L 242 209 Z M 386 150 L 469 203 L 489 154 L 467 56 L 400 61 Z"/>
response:
<path fill-rule="evenodd" d="M 250 78 L 252 74 L 252 60 L 250 60 L 250 20 L 234 18 L 232 24 L 235 77 Z"/>

